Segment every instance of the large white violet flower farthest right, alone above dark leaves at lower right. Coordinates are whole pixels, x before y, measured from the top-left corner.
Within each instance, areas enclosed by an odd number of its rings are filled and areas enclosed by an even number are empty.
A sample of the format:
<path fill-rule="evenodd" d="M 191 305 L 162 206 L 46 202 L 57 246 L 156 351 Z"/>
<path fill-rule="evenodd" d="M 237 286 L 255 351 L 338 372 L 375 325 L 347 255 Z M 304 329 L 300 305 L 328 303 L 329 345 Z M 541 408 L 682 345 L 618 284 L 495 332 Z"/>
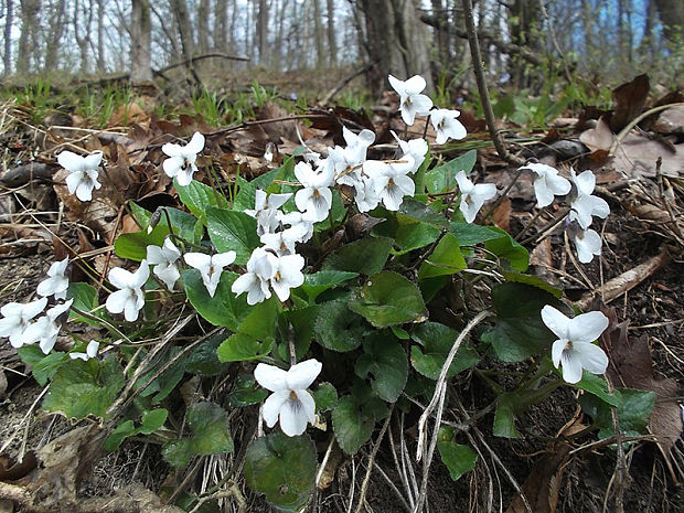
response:
<path fill-rule="evenodd" d="M 563 378 L 568 383 L 581 380 L 583 368 L 591 374 L 603 374 L 608 356 L 601 348 L 592 344 L 608 328 L 608 318 L 599 311 L 583 313 L 568 319 L 554 307 L 542 309 L 542 320 L 558 336 L 552 346 L 552 360 L 558 368 L 563 365 Z"/>

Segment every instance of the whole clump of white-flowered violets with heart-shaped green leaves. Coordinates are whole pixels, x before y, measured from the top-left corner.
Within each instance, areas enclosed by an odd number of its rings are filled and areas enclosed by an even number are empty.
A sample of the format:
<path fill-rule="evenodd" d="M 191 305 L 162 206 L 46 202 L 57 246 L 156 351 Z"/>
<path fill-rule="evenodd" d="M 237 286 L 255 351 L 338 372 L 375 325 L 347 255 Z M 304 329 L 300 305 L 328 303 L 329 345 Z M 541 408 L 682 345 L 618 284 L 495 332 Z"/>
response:
<path fill-rule="evenodd" d="M 438 145 L 467 136 L 459 111 L 434 107 L 421 93 L 420 76 L 389 83 L 407 125 L 429 116 Z M 94 286 L 70 282 L 64 259 L 39 285 L 42 299 L 0 308 L 0 336 L 26 360 L 51 359 L 50 376 L 36 374 L 51 383 L 43 407 L 115 419 L 107 424 L 110 450 L 126 437 L 163 430 L 156 440 L 174 467 L 233 451 L 228 410 L 252 410 L 259 425 L 258 437 L 244 440 L 247 482 L 290 510 L 311 498 L 322 457 L 311 440 L 321 440 L 322 429 L 354 455 L 388 416 L 439 398 L 446 380 L 485 376 L 477 386 L 495 393 L 488 408 L 501 437 L 519 436 L 516 417 L 563 384 L 619 407 L 620 396 L 600 377 L 608 355 L 595 343 L 607 318 L 567 317 L 563 291 L 525 275 L 527 250 L 504 231 L 475 223 L 498 190 L 474 183 L 474 150 L 432 167 L 428 140 L 393 137 L 396 154 L 368 159 L 375 133 L 344 127 L 345 146 L 322 154 L 304 148 L 303 158 L 287 158 L 250 182 L 237 178 L 231 197 L 194 180 L 204 136 L 164 145 L 161 165 L 185 209 L 131 205 L 141 229 L 119 235 L 115 250 L 137 264 L 110 269 Z M 88 201 L 101 154 L 76 157 L 62 153 L 60 162 L 76 177 L 67 178 L 70 191 Z M 609 209 L 592 195 L 594 175 L 570 170 L 570 182 L 545 164 L 523 169 L 535 173 L 538 207 L 556 196 L 571 200 L 566 224 L 579 260 L 600 254 L 600 236 L 589 226 Z M 77 255 L 71 263 L 81 265 Z M 490 291 L 489 310 L 479 316 L 469 304 L 477 281 Z M 457 289 L 459 311 L 446 302 Z M 470 319 L 478 330 L 466 325 Z M 90 329 L 71 329 L 78 323 Z M 487 377 L 496 373 L 495 365 L 485 368 L 491 362 L 527 371 L 504 386 Z M 130 376 L 140 381 L 127 384 Z M 225 386 L 212 388 L 211 400 L 169 410 L 170 395 L 195 377 L 197 396 L 206 380 Z M 94 392 L 79 398 L 74 391 L 84 387 Z M 119 394 L 136 407 L 117 410 Z M 473 448 L 458 447 L 471 462 L 462 471 L 471 470 Z M 274 492 L 285 485 L 278 480 L 290 458 L 313 468 L 295 470 L 286 494 Z"/>

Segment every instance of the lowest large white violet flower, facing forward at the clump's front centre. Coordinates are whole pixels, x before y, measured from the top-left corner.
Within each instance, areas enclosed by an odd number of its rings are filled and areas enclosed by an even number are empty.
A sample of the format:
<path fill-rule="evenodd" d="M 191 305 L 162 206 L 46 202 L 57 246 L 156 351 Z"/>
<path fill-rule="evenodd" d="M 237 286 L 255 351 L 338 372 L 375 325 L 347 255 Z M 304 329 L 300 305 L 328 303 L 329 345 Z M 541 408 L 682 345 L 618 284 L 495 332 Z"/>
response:
<path fill-rule="evenodd" d="M 264 402 L 264 420 L 274 427 L 280 419 L 280 429 L 288 437 L 296 437 L 307 430 L 308 423 L 316 421 L 316 403 L 307 388 L 321 373 L 323 365 L 317 360 L 292 365 L 284 371 L 274 365 L 259 363 L 254 377 L 259 385 L 272 392 Z"/>

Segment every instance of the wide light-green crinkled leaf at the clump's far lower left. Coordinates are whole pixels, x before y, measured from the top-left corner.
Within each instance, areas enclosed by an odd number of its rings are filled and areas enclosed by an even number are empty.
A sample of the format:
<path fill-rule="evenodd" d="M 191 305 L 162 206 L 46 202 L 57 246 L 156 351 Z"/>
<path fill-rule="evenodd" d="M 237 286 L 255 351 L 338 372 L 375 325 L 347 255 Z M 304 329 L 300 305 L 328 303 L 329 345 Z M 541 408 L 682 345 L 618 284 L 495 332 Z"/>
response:
<path fill-rule="evenodd" d="M 125 382 L 116 356 L 110 355 L 103 362 L 93 359 L 68 363 L 61 365 L 52 377 L 43 408 L 74 418 L 103 417 Z"/>

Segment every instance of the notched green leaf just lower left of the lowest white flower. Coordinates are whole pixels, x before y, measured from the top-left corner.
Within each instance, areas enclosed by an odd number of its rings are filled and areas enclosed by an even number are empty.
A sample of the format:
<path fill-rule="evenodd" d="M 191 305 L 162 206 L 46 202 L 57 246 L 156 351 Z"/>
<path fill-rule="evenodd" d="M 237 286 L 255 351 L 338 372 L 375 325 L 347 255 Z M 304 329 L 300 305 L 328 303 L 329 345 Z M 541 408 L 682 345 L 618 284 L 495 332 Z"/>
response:
<path fill-rule="evenodd" d="M 162 457 L 173 467 L 188 466 L 196 455 L 233 452 L 228 432 L 228 414 L 213 403 L 196 403 L 188 408 L 185 424 L 192 436 L 172 440 L 162 448 Z"/>

